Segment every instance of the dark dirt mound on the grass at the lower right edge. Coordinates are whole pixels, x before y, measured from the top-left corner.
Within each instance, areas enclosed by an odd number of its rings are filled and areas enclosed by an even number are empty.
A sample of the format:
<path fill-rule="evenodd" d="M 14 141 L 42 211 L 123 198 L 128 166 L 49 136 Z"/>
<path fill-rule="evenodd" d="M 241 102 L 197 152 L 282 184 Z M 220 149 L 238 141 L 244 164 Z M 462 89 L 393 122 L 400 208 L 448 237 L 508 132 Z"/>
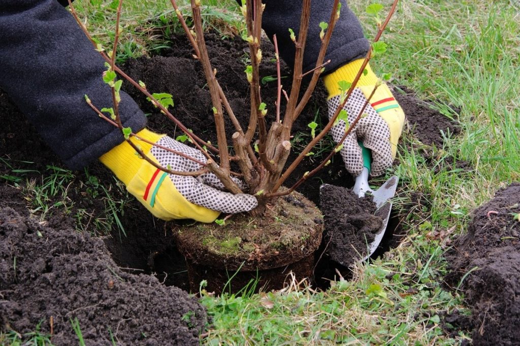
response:
<path fill-rule="evenodd" d="M 520 184 L 497 192 L 473 212 L 468 233 L 454 242 L 446 282 L 472 307 L 474 344 L 514 345 L 520 340 Z"/>

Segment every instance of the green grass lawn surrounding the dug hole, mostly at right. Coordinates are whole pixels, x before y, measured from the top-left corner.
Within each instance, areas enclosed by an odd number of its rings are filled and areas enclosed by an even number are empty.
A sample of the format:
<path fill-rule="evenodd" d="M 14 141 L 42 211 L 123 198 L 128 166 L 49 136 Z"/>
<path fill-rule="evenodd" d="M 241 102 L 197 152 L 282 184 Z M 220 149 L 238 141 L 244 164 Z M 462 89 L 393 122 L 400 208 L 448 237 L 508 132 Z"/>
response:
<path fill-rule="evenodd" d="M 115 16 L 110 3 L 76 4 L 90 30 L 107 46 Z M 220 8 L 206 10 L 206 18 L 220 16 L 215 21 L 219 28 L 223 21 L 236 25 L 234 2 L 217 3 Z M 372 37 L 375 29 L 364 13 L 369 3 L 349 2 Z M 391 1 L 382 3 L 388 8 Z M 125 4 L 120 59 L 168 46 L 159 36 L 178 25 L 167 1 Z M 443 148 L 425 147 L 405 129 L 395 167 L 401 180 L 395 209 L 407 236 L 382 258 L 359 263 L 352 280 L 335 282 L 327 291 L 314 292 L 289 281 L 281 292 L 241 297 L 203 294 L 201 302 L 213 316 L 204 344 L 433 345 L 469 339 L 463 332 L 450 338 L 440 327 L 444 314 L 467 312 L 459 292 L 442 286 L 448 265 L 444 253 L 449 238 L 465 232 L 475 207 L 520 178 L 520 12 L 514 4 L 400 2 L 383 35 L 388 52 L 371 65 L 379 73 L 392 72 L 393 83 L 417 91 L 418 97 L 437 100 L 436 108 L 462 127 L 462 133 L 448 138 Z M 454 114 L 449 105 L 460 107 L 461 113 Z M 424 151 L 437 162 L 438 170 L 425 162 Z M 472 169 L 453 168 L 447 159 L 464 160 Z M 409 209 L 412 193 L 424 197 L 421 207 Z M 440 232 L 446 237 L 440 238 Z"/>

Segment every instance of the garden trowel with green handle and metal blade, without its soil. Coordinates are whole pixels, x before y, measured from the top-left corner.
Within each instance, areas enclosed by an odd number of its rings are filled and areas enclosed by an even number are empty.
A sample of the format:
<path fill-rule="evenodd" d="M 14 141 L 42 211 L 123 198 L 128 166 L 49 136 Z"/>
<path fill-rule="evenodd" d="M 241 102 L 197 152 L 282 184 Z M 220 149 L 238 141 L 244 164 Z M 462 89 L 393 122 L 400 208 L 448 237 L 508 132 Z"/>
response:
<path fill-rule="evenodd" d="M 361 174 L 356 177 L 356 183 L 354 184 L 355 194 L 358 195 L 359 198 L 365 197 L 365 193 L 369 192 L 373 196 L 373 201 L 377 210 L 375 211 L 375 215 L 380 217 L 383 220 L 381 225 L 381 229 L 375 234 L 374 241 L 368 244 L 368 253 L 363 261 L 368 259 L 374 251 L 378 248 L 381 243 L 381 239 L 383 239 L 383 235 L 386 231 L 386 226 L 388 225 L 388 219 L 390 218 L 390 212 L 392 211 L 392 201 L 391 198 L 395 196 L 395 191 L 397 189 L 397 182 L 399 178 L 397 176 L 392 176 L 388 179 L 381 187 L 377 190 L 370 189 L 368 184 L 368 176 L 370 175 L 370 165 L 372 163 L 372 154 L 369 149 L 365 148 L 365 146 L 359 142 L 359 146 L 361 147 L 363 154 L 363 170 Z"/>

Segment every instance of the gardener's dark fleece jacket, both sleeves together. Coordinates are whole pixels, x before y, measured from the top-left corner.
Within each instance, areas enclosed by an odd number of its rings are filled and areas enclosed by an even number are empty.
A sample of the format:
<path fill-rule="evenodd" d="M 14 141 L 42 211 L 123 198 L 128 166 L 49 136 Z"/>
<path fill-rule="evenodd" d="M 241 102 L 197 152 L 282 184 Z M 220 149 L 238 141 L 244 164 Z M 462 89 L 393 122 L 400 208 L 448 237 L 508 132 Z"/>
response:
<path fill-rule="evenodd" d="M 362 57 L 368 51 L 356 17 L 341 0 L 341 17 L 329 45 L 327 71 Z M 277 34 L 281 57 L 292 65 L 301 0 L 264 0 L 263 26 Z M 102 82 L 104 60 L 74 18 L 66 0 L 0 0 L 0 87 L 27 115 L 49 147 L 72 169 L 80 169 L 123 141 L 119 129 L 88 107 L 112 107 L 110 89 Z M 239 1 L 240 3 L 240 1 Z M 332 0 L 313 0 L 304 71 L 314 68 L 321 41 L 319 22 L 328 21 Z M 146 124 L 144 114 L 124 92 L 120 113 L 134 131 Z"/>

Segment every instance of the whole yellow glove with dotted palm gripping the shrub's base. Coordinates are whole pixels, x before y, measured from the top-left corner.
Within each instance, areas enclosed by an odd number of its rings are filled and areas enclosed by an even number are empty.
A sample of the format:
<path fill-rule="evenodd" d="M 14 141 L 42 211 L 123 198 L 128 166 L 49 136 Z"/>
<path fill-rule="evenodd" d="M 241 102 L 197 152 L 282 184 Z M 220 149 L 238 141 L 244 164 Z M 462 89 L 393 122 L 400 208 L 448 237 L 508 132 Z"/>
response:
<path fill-rule="evenodd" d="M 140 137 L 206 162 L 206 157 L 197 149 L 188 147 L 168 136 L 155 134 L 147 129 L 139 131 Z M 176 171 L 197 171 L 201 165 L 180 155 L 132 138 L 141 150 L 155 163 Z M 233 195 L 222 191 L 224 186 L 213 174 L 198 177 L 167 174 L 155 168 L 127 142 L 102 155 L 100 161 L 114 172 L 154 216 L 163 220 L 194 219 L 213 222 L 220 212 L 233 214 L 249 211 L 257 206 L 254 196 Z M 237 183 L 242 183 L 237 179 Z M 241 186 L 243 188 L 243 185 Z"/>

